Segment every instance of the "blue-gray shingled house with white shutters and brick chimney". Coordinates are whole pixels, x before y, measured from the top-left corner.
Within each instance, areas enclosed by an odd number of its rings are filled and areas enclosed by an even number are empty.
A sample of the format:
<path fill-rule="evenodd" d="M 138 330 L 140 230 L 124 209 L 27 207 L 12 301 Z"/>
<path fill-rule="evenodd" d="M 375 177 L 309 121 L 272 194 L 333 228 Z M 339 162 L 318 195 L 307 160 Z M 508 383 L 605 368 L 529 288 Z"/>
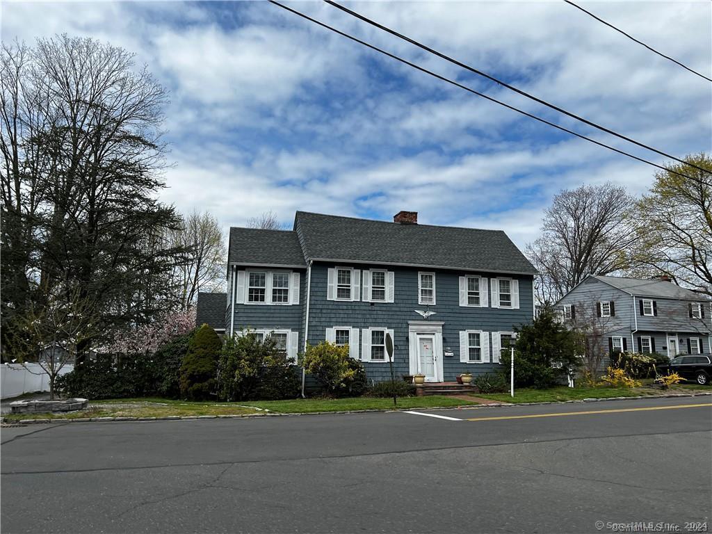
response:
<path fill-rule="evenodd" d="M 228 335 L 271 335 L 295 360 L 306 344 L 348 345 L 370 382 L 491 372 L 515 325 L 533 319 L 535 268 L 503 231 L 298 211 L 290 231 L 231 228 Z M 204 316 L 201 310 L 199 316 Z"/>

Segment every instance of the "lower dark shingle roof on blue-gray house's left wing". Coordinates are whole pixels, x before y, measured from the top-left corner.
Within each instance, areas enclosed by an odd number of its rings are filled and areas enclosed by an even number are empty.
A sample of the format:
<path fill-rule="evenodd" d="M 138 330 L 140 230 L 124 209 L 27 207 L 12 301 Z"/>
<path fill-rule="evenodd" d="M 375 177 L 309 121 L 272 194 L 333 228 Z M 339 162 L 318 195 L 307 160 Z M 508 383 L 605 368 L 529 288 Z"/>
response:
<path fill-rule="evenodd" d="M 240 265 L 306 266 L 295 231 L 236 227 L 230 229 L 228 262 Z"/>

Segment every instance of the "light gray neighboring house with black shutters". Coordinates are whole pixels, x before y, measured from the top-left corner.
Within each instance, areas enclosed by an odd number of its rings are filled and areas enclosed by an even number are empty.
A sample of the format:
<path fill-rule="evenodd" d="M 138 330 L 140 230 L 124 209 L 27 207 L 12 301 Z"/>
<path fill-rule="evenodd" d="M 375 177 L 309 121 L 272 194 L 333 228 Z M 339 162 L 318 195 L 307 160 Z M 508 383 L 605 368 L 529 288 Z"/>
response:
<path fill-rule="evenodd" d="M 712 352 L 710 301 L 666 279 L 589 276 L 557 307 L 565 321 L 594 321 L 614 351 L 679 354 Z"/>

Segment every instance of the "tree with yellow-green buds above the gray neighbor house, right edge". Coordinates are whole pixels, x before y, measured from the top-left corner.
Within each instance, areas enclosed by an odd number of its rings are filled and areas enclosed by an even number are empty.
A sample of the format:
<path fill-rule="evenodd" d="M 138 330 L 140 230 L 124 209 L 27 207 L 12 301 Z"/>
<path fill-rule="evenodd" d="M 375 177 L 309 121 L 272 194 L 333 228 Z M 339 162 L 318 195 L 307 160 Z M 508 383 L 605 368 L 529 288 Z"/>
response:
<path fill-rule="evenodd" d="M 686 158 L 712 172 L 712 157 Z M 661 171 L 650 193 L 637 203 L 637 260 L 643 273 L 664 274 L 681 286 L 712 295 L 712 174 L 686 164 Z"/>

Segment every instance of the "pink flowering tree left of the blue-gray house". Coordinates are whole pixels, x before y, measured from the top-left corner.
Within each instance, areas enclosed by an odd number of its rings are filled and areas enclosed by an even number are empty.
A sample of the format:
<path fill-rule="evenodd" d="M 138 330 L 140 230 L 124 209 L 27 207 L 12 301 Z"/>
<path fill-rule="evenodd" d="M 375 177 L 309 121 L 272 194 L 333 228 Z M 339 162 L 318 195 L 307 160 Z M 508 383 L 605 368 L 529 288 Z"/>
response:
<path fill-rule="evenodd" d="M 194 308 L 169 313 L 150 325 L 141 325 L 132 330 L 124 330 L 108 347 L 109 352 L 120 354 L 140 354 L 156 352 L 174 337 L 189 333 L 195 328 Z"/>

